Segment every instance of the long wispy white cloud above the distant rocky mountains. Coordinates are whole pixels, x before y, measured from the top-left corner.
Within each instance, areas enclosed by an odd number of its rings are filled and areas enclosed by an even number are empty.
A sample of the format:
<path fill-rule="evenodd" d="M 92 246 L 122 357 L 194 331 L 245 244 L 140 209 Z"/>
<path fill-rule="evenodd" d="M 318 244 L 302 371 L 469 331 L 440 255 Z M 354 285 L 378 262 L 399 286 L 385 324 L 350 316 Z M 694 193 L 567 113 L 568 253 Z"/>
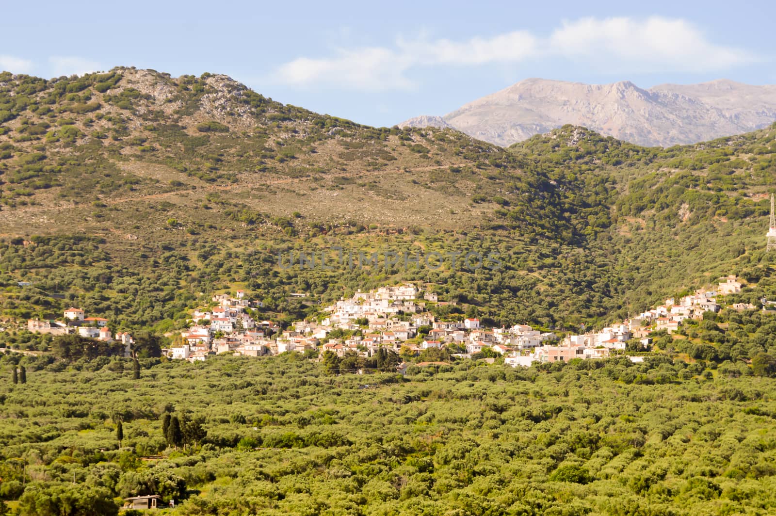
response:
<path fill-rule="evenodd" d="M 407 89 L 421 66 L 514 64 L 566 59 L 616 73 L 717 71 L 755 61 L 740 49 L 709 41 L 682 19 L 583 18 L 563 22 L 549 36 L 526 30 L 469 40 L 397 38 L 391 47 L 337 49 L 331 57 L 299 57 L 274 80 L 286 85 L 338 85 L 359 90 Z"/>

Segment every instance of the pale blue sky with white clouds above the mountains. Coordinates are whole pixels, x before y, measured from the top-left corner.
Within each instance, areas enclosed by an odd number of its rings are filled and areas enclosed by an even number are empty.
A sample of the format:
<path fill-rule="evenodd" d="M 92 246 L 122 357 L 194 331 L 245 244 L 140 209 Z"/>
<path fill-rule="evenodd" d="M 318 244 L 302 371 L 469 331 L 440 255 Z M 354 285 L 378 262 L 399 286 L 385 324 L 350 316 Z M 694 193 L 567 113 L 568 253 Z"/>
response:
<path fill-rule="evenodd" d="M 593 5 L 591 5 L 593 4 Z M 776 83 L 771 2 L 7 2 L 0 69 L 228 74 L 391 126 L 524 78 Z"/>

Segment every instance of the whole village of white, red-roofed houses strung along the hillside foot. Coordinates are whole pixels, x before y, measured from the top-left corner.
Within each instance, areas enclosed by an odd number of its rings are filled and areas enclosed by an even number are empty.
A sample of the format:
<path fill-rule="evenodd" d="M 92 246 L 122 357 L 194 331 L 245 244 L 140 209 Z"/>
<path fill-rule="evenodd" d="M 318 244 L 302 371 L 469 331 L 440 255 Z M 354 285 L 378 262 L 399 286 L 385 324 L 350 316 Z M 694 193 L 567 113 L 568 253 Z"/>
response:
<path fill-rule="evenodd" d="M 508 365 L 528 367 L 535 362 L 607 358 L 646 350 L 653 332 L 674 332 L 685 319 L 699 320 L 706 312 L 718 312 L 718 295 L 740 291 L 741 283 L 735 276 L 728 276 L 715 290 L 701 289 L 678 300 L 668 299 L 622 323 L 559 339 L 556 333 L 527 324 L 483 327 L 479 319 L 464 318 L 462 314 L 435 317 L 432 306 L 455 303 L 440 301 L 437 294 L 423 293 L 410 283 L 383 286 L 366 293 L 358 291 L 324 307 L 323 317 L 297 321 L 286 330 L 270 320 L 255 318 L 255 311 L 248 309 L 260 308 L 262 303 L 246 299 L 244 291 L 237 290 L 234 296 L 213 296 L 208 307 L 193 310 L 189 327 L 175 336 L 175 344 L 166 353 L 171 359 L 196 362 L 224 353 L 258 357 L 300 352 L 313 358 L 331 353 L 340 358 L 371 358 L 380 350 L 406 358 L 431 348 L 446 348 L 459 358 L 500 355 Z M 734 304 L 732 308 L 743 311 L 755 306 Z M 64 310 L 63 315 L 62 320 L 30 319 L 27 328 L 38 333 L 79 334 L 99 341 L 118 341 L 124 345 L 124 355 L 132 356 L 133 338 L 125 332 L 112 335 L 108 320 L 85 317 L 84 310 L 74 307 Z M 636 341 L 638 345 L 634 347 Z M 406 364 L 398 365 L 399 370 L 402 367 Z"/>

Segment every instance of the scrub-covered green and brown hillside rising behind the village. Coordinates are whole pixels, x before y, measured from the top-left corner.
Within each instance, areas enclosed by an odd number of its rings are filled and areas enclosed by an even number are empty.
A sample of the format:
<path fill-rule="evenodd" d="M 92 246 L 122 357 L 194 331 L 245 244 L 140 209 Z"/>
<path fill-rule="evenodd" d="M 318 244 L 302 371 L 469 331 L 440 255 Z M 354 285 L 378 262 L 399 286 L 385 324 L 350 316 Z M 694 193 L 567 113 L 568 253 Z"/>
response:
<path fill-rule="evenodd" d="M 236 286 L 293 320 L 411 280 L 494 324 L 595 324 L 773 264 L 773 127 L 660 149 L 566 126 L 504 150 L 283 106 L 223 75 L 133 68 L 0 74 L 0 121 L 6 320 L 78 304 L 167 331 Z M 503 267 L 278 266 L 337 247 L 495 252 Z M 307 304 L 287 298 L 299 291 Z"/>

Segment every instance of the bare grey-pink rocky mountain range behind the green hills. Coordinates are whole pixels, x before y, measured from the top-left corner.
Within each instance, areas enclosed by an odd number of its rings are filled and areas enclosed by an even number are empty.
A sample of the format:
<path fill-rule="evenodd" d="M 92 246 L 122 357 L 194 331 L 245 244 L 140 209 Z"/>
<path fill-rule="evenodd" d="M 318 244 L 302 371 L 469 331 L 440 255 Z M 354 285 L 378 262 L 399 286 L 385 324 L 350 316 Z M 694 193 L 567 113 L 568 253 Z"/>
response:
<path fill-rule="evenodd" d="M 776 120 L 776 85 L 719 79 L 697 85 L 643 89 L 530 78 L 445 116 L 417 116 L 402 127 L 452 127 L 508 147 L 567 123 L 646 146 L 694 144 Z"/>

